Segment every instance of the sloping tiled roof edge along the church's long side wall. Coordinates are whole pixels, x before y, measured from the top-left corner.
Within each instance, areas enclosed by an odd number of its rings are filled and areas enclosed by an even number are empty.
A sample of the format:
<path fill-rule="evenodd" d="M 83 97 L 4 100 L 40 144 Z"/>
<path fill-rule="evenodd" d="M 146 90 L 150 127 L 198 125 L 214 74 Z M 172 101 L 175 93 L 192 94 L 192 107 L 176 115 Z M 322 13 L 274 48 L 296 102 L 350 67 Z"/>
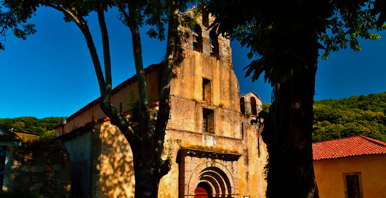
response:
<path fill-rule="evenodd" d="M 162 63 L 162 62 L 161 62 Z M 146 72 L 150 72 L 152 71 L 153 69 L 155 69 L 158 65 L 160 65 L 161 63 L 158 63 L 158 64 L 151 64 L 149 65 L 148 67 L 145 68 L 145 73 Z M 128 78 L 127 80 L 123 81 L 122 83 L 118 84 L 117 86 L 115 86 L 112 90 L 111 90 L 111 96 L 115 93 L 117 93 L 118 91 L 120 91 L 121 89 L 125 88 L 126 86 L 130 85 L 132 82 L 135 82 L 137 79 L 135 78 L 136 75 Z M 79 110 L 77 110 L 75 113 L 73 113 L 72 115 L 68 116 L 67 117 L 67 121 L 70 121 L 72 119 L 74 119 L 76 116 L 78 116 L 81 111 L 83 110 L 87 110 L 88 108 L 92 107 L 94 104 L 96 104 L 98 101 L 99 101 L 100 97 L 98 97 L 97 99 L 94 99 L 93 101 L 91 101 L 90 103 L 86 104 L 85 106 L 83 106 L 82 108 L 80 108 Z M 55 124 L 53 126 L 54 129 L 56 129 L 58 126 L 60 126 L 60 123 L 62 122 L 59 122 L 57 124 Z"/>

